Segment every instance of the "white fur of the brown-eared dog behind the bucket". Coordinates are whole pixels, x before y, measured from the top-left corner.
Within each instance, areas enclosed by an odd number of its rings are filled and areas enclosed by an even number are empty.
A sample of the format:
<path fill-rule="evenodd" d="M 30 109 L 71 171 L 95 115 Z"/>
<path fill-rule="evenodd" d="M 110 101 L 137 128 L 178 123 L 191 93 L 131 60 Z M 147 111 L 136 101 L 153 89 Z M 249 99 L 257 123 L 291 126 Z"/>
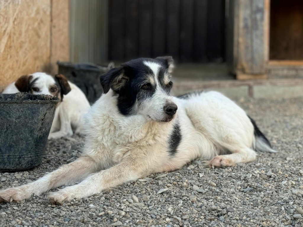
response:
<path fill-rule="evenodd" d="M 39 91 L 33 92 L 33 94 L 52 95 L 49 87 L 55 84 L 54 77 L 40 72 L 33 73 L 31 76 L 32 81 L 38 78 L 35 82 L 35 87 L 38 87 Z M 72 136 L 73 132 L 84 134 L 84 115 L 87 113 L 90 104 L 79 87 L 69 81 L 68 84 L 72 90 L 63 96 L 62 102 L 56 107 L 48 139 Z M 18 92 L 19 90 L 15 86 L 15 82 L 13 82 L 5 88 L 2 94 Z"/>

